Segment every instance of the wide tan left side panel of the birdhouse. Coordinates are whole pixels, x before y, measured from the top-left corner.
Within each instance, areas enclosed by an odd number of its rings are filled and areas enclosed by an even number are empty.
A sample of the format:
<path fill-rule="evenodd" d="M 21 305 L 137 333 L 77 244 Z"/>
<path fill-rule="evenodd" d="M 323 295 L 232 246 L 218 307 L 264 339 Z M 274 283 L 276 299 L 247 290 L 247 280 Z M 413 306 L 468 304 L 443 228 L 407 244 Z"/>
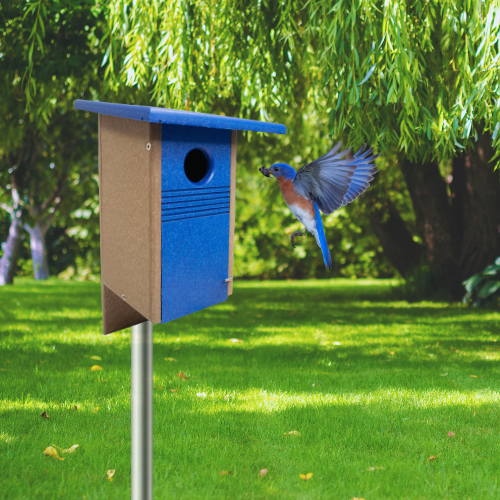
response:
<path fill-rule="evenodd" d="M 152 322 L 161 319 L 161 126 L 99 115 L 99 198 L 101 218 L 101 280 Z M 120 311 L 112 301 L 104 333 L 120 327 Z M 126 306 L 126 307 L 125 307 Z M 127 325 L 130 326 L 130 325 Z"/>

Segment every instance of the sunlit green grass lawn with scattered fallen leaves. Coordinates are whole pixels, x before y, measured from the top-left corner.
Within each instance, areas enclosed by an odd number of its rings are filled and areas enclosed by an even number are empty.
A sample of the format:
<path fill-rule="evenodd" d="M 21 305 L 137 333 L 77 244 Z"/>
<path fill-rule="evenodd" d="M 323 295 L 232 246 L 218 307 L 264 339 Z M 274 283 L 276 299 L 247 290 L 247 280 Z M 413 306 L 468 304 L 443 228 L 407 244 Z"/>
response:
<path fill-rule="evenodd" d="M 500 498 L 500 313 L 394 296 L 237 283 L 155 326 L 154 498 Z M 0 288 L 1 498 L 130 497 L 130 332 L 100 318 L 98 284 Z"/>

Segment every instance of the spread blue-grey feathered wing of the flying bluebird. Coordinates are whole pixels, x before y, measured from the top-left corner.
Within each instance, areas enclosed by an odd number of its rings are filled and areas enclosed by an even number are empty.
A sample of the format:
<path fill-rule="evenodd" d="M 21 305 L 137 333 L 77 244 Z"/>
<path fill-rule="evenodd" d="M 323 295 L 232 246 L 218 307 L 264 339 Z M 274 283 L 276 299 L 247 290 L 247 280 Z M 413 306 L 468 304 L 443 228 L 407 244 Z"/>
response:
<path fill-rule="evenodd" d="M 365 151 L 364 144 L 353 157 L 344 158 L 351 148 L 339 153 L 341 147 L 338 142 L 326 155 L 302 167 L 293 181 L 297 194 L 314 200 L 325 215 L 366 191 L 377 172 L 372 162 L 380 155 L 371 156 L 373 148 Z"/>

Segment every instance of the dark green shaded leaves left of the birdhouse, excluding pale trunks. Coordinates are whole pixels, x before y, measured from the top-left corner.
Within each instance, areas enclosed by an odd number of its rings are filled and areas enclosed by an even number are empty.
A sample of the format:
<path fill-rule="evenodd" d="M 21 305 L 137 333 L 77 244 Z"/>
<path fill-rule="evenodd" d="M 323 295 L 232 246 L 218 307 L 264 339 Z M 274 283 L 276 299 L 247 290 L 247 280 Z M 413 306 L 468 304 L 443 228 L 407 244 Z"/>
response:
<path fill-rule="evenodd" d="M 102 90 L 102 24 L 98 4 L 87 0 L 6 2 L 0 9 L 0 205 L 7 210 L 19 197 L 24 223 L 50 226 L 52 273 L 77 260 L 98 266 L 98 216 L 83 222 L 97 238 L 79 238 L 75 229 L 82 226 L 79 210 L 98 210 L 97 120 L 76 113 L 73 102 Z"/>

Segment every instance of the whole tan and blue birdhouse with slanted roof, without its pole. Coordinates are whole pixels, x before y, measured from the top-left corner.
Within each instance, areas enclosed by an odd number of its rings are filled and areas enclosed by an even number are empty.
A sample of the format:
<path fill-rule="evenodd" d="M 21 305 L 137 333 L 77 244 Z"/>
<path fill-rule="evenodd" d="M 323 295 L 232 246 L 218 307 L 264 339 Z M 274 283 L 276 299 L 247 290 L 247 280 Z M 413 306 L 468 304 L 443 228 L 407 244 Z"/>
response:
<path fill-rule="evenodd" d="M 166 323 L 232 293 L 236 131 L 280 124 L 75 101 L 99 114 L 104 333 Z"/>

